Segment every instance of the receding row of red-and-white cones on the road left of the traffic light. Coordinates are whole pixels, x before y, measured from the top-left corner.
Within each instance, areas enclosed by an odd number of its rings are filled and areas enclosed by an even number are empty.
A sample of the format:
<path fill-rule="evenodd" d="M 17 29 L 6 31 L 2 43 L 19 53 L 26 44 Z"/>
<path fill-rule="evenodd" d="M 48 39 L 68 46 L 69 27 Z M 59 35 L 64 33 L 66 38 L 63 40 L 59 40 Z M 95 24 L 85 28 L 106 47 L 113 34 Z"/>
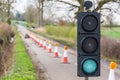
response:
<path fill-rule="evenodd" d="M 35 36 L 35 35 L 34 35 Z M 37 36 L 30 36 L 30 38 L 36 43 L 38 44 L 40 47 L 43 47 L 44 50 L 48 49 L 48 53 L 52 53 L 53 49 L 52 49 L 52 41 L 48 42 L 48 48 L 47 48 L 47 41 L 45 39 L 42 39 L 41 37 L 37 37 Z M 59 57 L 59 52 L 58 52 L 58 43 L 54 44 L 55 49 L 54 49 L 54 57 L 58 58 Z M 68 56 L 67 56 L 67 52 L 68 52 L 68 47 L 64 46 L 64 53 L 63 53 L 63 58 L 62 58 L 62 62 L 63 63 L 68 63 Z"/>

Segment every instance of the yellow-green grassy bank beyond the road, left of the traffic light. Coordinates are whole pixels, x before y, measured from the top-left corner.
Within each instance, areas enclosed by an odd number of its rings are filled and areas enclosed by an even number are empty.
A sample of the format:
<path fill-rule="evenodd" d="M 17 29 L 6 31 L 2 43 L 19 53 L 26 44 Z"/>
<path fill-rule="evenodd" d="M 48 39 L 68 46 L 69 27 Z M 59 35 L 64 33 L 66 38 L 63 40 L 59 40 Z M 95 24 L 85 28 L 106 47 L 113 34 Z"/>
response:
<path fill-rule="evenodd" d="M 76 27 L 67 27 L 67 26 L 45 26 L 44 31 L 36 30 L 35 32 L 42 34 L 45 37 L 48 37 L 50 39 L 54 39 L 64 45 L 70 46 L 72 48 L 76 48 L 76 42 L 77 42 L 77 28 Z"/>

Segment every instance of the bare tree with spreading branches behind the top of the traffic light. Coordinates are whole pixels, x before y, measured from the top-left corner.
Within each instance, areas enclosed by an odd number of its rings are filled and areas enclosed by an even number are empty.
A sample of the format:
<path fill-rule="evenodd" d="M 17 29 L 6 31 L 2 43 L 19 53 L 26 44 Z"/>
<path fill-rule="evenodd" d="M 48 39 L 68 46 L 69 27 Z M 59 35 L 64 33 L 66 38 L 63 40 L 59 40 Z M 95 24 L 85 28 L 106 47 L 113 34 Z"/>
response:
<path fill-rule="evenodd" d="M 54 0 L 57 2 L 62 2 L 65 4 L 68 4 L 71 6 L 70 11 L 71 10 L 75 10 L 77 9 L 77 12 L 75 13 L 76 16 L 79 12 L 83 12 L 84 11 L 84 0 L 75 0 L 76 2 L 79 3 L 79 5 L 76 5 L 74 3 L 71 2 L 66 2 L 65 0 Z M 109 17 L 110 14 L 114 14 L 117 13 L 120 15 L 120 0 L 91 0 L 94 2 L 94 10 L 93 11 L 99 11 L 100 13 L 103 12 L 104 10 L 106 10 L 109 14 L 105 15 L 108 16 L 106 17 L 106 19 L 109 19 L 109 23 L 113 24 L 113 16 L 111 16 L 111 18 Z M 107 4 L 107 6 L 105 6 Z M 113 6 L 111 6 L 112 4 L 114 4 Z M 116 6 L 117 8 L 114 8 L 114 6 Z M 102 18 L 105 17 L 104 14 L 101 14 Z"/>

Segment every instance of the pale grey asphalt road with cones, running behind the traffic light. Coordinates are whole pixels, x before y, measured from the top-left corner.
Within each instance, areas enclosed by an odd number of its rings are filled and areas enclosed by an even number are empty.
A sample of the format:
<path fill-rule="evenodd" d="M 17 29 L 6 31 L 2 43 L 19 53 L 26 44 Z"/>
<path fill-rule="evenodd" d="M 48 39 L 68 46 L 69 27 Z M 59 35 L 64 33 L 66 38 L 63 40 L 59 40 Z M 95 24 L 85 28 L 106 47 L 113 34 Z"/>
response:
<path fill-rule="evenodd" d="M 18 31 L 24 36 L 26 28 L 18 25 Z M 36 60 L 40 62 L 38 66 L 42 66 L 48 80 L 85 80 L 83 77 L 77 77 L 77 57 L 76 51 L 69 49 L 68 61 L 69 64 L 62 63 L 63 46 L 59 46 L 58 52 L 59 58 L 54 58 L 53 53 L 48 53 L 47 50 L 39 47 L 31 39 L 24 39 L 23 41 L 27 44 L 28 50 L 36 55 Z M 54 47 L 52 46 L 54 49 Z M 75 55 L 73 55 L 75 54 Z M 120 70 L 117 70 L 116 80 L 120 80 Z M 90 77 L 89 80 L 108 80 L 109 76 L 109 64 L 101 61 L 101 76 Z"/>

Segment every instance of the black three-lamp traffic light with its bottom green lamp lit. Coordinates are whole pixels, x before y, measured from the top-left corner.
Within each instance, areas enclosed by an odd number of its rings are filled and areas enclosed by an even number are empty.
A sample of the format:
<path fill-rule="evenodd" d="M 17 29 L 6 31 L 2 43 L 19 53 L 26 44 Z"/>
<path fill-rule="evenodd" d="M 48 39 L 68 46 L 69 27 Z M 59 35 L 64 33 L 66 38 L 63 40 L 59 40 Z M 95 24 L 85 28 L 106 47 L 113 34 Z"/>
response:
<path fill-rule="evenodd" d="M 77 75 L 100 76 L 100 14 L 78 14 Z"/>

